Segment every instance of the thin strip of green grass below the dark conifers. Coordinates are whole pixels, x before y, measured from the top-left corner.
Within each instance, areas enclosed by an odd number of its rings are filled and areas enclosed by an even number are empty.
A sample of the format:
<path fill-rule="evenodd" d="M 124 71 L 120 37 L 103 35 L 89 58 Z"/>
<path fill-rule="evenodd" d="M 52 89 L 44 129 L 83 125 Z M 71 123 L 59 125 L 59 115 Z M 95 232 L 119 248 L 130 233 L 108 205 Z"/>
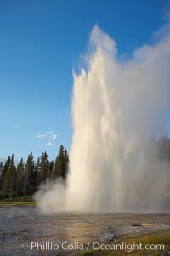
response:
<path fill-rule="evenodd" d="M 0 200 L 0 204 L 35 204 L 32 196 L 20 196 Z"/>

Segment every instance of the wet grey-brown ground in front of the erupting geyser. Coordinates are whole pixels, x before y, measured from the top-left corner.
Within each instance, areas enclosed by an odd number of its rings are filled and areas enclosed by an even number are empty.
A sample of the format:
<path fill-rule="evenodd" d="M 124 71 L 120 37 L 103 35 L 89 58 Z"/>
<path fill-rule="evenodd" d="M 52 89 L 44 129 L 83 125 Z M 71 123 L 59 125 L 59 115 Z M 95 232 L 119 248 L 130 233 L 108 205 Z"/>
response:
<path fill-rule="evenodd" d="M 170 214 L 55 213 L 0 206 L 0 255 L 77 255 L 92 242 L 170 228 Z M 83 246 L 83 248 L 82 248 Z"/>

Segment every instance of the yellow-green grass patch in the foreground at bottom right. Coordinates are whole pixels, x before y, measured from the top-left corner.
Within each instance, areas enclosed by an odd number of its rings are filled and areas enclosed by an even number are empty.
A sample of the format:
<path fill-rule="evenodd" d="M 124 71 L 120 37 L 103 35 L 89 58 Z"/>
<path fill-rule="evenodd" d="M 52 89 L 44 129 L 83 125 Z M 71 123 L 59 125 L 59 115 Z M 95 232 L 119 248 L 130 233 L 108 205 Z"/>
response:
<path fill-rule="evenodd" d="M 111 244 L 122 244 L 122 242 L 126 242 L 126 244 L 139 244 L 142 243 L 142 247 L 147 244 L 163 244 L 165 249 L 164 250 L 133 250 L 132 252 L 127 252 L 126 250 L 123 251 L 113 251 L 113 250 L 105 250 L 105 251 L 88 251 L 83 252 L 81 256 L 167 256 L 170 255 L 170 230 L 159 230 L 159 231 L 152 231 L 149 233 L 143 233 L 138 235 L 128 235 L 122 236 L 122 238 L 117 239 L 116 241 L 111 242 Z M 102 244 L 100 242 L 100 244 Z"/>

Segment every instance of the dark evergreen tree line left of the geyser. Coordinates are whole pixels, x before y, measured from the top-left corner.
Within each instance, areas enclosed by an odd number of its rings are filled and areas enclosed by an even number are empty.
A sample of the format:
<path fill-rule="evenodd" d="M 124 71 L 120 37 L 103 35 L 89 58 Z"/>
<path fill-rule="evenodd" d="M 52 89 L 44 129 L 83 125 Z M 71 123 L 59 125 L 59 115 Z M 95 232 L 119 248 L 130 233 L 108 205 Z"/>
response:
<path fill-rule="evenodd" d="M 63 145 L 55 161 L 49 161 L 47 152 L 34 160 L 29 154 L 27 161 L 23 158 L 16 164 L 14 155 L 8 156 L 6 162 L 0 162 L 0 198 L 31 196 L 40 184 L 57 178 L 66 179 L 68 174 L 69 155 Z"/>

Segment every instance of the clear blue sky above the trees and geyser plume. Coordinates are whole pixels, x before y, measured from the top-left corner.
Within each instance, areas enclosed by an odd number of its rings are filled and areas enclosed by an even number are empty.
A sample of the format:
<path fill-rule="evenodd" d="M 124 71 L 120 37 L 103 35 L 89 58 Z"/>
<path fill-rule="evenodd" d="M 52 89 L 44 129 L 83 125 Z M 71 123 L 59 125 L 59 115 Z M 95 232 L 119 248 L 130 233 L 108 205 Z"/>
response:
<path fill-rule="evenodd" d="M 152 43 L 164 0 L 0 0 L 0 156 L 54 159 L 71 145 L 72 68 L 98 24 L 119 54 Z"/>

